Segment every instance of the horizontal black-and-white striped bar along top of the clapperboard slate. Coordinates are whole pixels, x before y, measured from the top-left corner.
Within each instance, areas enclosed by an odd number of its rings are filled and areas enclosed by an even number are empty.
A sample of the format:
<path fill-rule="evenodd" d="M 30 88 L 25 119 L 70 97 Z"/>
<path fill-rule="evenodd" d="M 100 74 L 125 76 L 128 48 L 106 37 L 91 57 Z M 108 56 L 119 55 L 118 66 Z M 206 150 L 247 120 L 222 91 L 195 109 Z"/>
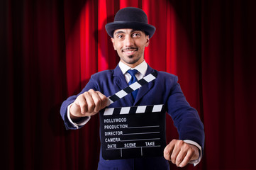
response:
<path fill-rule="evenodd" d="M 158 113 L 164 111 L 164 105 L 131 106 L 122 108 L 106 108 L 104 115 L 125 115 L 133 113 Z"/>

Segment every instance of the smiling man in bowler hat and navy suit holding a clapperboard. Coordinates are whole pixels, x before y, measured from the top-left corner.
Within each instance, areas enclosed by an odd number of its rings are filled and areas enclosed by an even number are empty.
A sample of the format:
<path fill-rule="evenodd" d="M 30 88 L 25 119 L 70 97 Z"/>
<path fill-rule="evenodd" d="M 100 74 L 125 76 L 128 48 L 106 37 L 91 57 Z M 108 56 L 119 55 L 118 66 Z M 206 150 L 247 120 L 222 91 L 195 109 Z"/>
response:
<path fill-rule="evenodd" d="M 90 116 L 99 113 L 108 105 L 108 98 L 128 86 L 136 70 L 135 79 L 142 79 L 155 72 L 155 81 L 142 86 L 137 96 L 128 94 L 112 103 L 110 108 L 124 106 L 145 106 L 165 104 L 179 132 L 179 140 L 172 140 L 165 147 L 164 157 L 117 159 L 106 161 L 100 155 L 98 169 L 169 169 L 168 161 L 179 167 L 188 163 L 197 164 L 204 147 L 204 125 L 198 113 L 187 103 L 177 77 L 152 69 L 144 60 L 144 50 L 155 33 L 155 27 L 148 24 L 146 14 L 139 8 L 123 8 L 116 13 L 113 23 L 106 24 L 113 48 L 120 62 L 116 69 L 106 70 L 91 76 L 87 86 L 77 96 L 71 96 L 62 103 L 61 115 L 67 129 L 81 128 Z"/>

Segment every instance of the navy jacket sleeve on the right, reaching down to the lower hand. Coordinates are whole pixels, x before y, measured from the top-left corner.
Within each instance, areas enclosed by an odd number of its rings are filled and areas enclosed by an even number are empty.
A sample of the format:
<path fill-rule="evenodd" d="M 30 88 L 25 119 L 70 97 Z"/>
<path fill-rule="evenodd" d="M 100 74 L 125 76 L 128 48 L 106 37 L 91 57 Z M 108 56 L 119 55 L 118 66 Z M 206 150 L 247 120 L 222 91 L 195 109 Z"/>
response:
<path fill-rule="evenodd" d="M 179 140 L 192 140 L 204 148 L 204 125 L 196 109 L 187 102 L 182 89 L 174 77 L 172 90 L 167 100 L 167 112 L 174 120 L 174 125 L 179 132 Z"/>

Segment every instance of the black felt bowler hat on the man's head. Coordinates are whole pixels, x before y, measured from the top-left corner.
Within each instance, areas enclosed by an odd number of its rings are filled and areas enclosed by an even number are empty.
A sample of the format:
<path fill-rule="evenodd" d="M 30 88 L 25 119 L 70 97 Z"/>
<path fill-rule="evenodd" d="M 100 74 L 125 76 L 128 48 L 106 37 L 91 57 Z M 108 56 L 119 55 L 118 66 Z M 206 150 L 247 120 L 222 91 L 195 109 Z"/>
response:
<path fill-rule="evenodd" d="M 121 28 L 132 28 L 135 30 L 143 30 L 149 37 L 155 33 L 155 27 L 148 24 L 146 13 L 140 8 L 126 7 L 120 9 L 112 23 L 107 23 L 106 32 L 113 38 L 113 32 Z"/>

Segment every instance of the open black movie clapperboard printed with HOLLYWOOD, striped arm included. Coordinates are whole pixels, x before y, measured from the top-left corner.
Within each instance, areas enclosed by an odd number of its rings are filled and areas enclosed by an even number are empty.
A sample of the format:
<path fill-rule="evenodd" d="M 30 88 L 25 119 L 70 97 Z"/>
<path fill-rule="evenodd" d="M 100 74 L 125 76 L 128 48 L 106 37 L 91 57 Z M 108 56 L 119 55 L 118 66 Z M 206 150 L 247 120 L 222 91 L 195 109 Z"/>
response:
<path fill-rule="evenodd" d="M 120 100 L 155 78 L 155 74 L 148 74 L 108 97 L 109 104 Z M 105 108 L 100 111 L 99 117 L 101 152 L 104 159 L 163 156 L 166 146 L 164 105 Z"/>

